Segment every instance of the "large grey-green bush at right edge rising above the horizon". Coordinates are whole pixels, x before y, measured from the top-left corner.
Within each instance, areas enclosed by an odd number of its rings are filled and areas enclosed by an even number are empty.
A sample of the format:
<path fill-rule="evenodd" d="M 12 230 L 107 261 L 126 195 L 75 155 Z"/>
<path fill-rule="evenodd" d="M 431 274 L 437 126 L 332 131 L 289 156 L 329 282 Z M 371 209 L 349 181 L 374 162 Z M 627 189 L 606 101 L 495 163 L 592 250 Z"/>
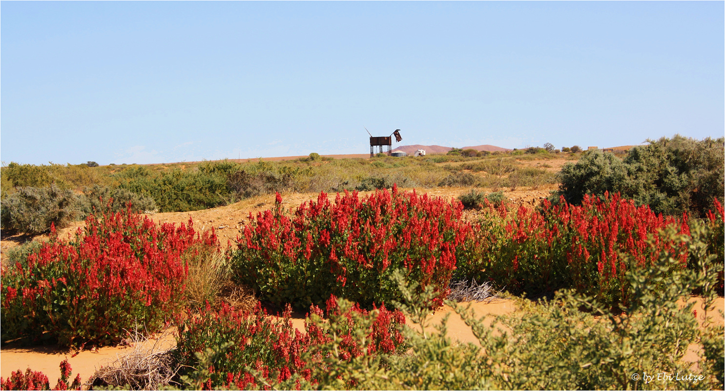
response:
<path fill-rule="evenodd" d="M 724 143 L 724 138 L 676 135 L 634 147 L 624 160 L 588 151 L 576 164 L 562 167 L 552 199 L 563 195 L 570 203 L 581 203 L 585 194 L 618 192 L 657 213 L 689 211 L 704 217 L 716 198 L 725 198 Z"/>

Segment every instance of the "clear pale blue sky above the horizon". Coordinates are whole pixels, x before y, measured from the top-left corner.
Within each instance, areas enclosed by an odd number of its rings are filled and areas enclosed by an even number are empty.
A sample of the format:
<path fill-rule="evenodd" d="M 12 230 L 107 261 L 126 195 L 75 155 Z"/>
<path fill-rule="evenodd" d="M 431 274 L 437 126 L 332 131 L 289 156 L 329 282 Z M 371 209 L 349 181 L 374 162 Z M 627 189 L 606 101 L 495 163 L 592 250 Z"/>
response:
<path fill-rule="evenodd" d="M 725 132 L 723 1 L 1 1 L 0 159 Z"/>

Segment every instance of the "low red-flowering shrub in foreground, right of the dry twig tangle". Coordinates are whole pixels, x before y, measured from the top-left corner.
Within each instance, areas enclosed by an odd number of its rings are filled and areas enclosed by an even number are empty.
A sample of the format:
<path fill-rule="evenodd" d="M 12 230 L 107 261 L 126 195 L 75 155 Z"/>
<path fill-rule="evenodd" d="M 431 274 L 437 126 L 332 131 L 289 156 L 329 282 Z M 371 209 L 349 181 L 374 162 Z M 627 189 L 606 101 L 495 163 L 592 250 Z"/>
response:
<path fill-rule="evenodd" d="M 331 335 L 311 321 L 305 321 L 306 332 L 302 333 L 292 326 L 289 315 L 291 307 L 282 318 L 268 316 L 267 312 L 257 305 L 254 311 L 239 311 L 223 304 L 219 311 L 213 311 L 210 306 L 202 309 L 201 313 L 189 314 L 179 326 L 179 337 L 175 354 L 178 362 L 192 368 L 199 369 L 199 361 L 195 353 L 207 348 L 218 348 L 227 342 L 233 346 L 208 369 L 209 379 L 203 379 L 204 387 L 230 387 L 244 390 L 248 387 L 260 387 L 252 374 L 244 370 L 245 366 L 259 371 L 266 382 L 278 384 L 289 379 L 292 374 L 299 373 L 307 380 L 311 379 L 311 371 L 304 357 L 306 352 L 314 350 L 317 345 L 323 345 L 331 340 Z M 316 306 L 311 311 L 320 317 L 325 312 Z M 368 311 L 360 309 L 357 305 L 352 311 L 363 316 L 371 316 Z M 339 358 L 349 360 L 360 356 L 366 351 L 368 354 L 377 352 L 393 353 L 403 348 L 404 338 L 397 326 L 405 324 L 405 316 L 400 311 L 388 311 L 385 306 L 375 311 L 375 321 L 368 329 L 368 345 L 360 346 L 353 337 L 360 327 L 352 320 L 352 316 L 339 314 L 336 300 L 328 300 L 327 315 L 341 315 L 344 322 L 341 335 L 342 343 L 339 347 Z M 331 353 L 329 353 L 331 354 Z M 320 357 L 312 356 L 313 360 Z M 320 365 L 320 362 L 315 365 Z M 307 368 L 306 368 L 307 366 Z"/>

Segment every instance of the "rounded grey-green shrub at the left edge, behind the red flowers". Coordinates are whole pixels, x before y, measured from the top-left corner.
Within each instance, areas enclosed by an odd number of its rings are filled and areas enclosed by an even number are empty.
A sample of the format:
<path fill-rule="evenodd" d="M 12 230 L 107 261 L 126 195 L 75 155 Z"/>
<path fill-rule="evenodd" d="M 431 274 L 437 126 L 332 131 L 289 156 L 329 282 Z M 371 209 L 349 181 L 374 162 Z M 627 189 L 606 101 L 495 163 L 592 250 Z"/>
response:
<path fill-rule="evenodd" d="M 50 230 L 51 224 L 65 227 L 83 215 L 78 195 L 56 185 L 47 188 L 17 188 L 0 206 L 2 228 L 28 234 Z"/>

